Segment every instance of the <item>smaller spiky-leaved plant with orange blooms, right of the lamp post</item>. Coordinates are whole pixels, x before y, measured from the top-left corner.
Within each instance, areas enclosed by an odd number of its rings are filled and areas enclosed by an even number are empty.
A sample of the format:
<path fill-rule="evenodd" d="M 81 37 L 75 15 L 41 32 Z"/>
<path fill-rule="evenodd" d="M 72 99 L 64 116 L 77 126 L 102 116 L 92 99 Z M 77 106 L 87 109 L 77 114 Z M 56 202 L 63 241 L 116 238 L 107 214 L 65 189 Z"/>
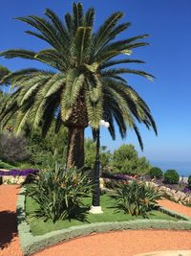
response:
<path fill-rule="evenodd" d="M 147 212 L 157 207 L 158 191 L 143 182 L 134 180 L 127 184 L 119 184 L 117 188 L 117 208 L 126 214 L 146 217 Z"/>

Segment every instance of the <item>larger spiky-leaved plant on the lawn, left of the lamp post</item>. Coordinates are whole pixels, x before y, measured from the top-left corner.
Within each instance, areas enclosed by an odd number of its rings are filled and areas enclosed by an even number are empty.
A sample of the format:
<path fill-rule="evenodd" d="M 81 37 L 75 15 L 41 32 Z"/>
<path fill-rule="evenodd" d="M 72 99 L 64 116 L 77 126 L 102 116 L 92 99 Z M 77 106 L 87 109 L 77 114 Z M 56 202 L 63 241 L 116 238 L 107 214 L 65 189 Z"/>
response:
<path fill-rule="evenodd" d="M 53 170 L 40 171 L 26 193 L 39 204 L 38 217 L 53 222 L 72 218 L 84 221 L 89 208 L 84 207 L 82 199 L 91 189 L 86 174 L 56 165 Z"/>

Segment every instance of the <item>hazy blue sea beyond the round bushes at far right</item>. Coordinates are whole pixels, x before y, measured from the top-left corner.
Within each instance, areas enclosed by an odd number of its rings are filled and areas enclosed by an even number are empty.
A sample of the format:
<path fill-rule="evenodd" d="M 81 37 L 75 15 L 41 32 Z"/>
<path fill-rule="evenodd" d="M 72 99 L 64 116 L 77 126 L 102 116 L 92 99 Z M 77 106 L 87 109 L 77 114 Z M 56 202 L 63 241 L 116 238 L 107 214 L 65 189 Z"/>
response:
<path fill-rule="evenodd" d="M 159 167 L 163 172 L 174 169 L 180 176 L 187 177 L 191 175 L 191 162 L 150 161 L 150 163 L 152 166 Z"/>

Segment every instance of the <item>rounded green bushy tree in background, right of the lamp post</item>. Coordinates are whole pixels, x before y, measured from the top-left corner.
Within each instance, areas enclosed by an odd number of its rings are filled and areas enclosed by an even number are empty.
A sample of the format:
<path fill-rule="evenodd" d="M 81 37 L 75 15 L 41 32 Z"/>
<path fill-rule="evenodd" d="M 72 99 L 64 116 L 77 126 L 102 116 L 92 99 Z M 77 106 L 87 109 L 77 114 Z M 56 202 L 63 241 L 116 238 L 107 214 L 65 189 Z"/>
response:
<path fill-rule="evenodd" d="M 122 145 L 114 151 L 113 172 L 127 175 L 142 175 L 150 170 L 145 157 L 138 158 L 138 151 L 133 145 Z"/>

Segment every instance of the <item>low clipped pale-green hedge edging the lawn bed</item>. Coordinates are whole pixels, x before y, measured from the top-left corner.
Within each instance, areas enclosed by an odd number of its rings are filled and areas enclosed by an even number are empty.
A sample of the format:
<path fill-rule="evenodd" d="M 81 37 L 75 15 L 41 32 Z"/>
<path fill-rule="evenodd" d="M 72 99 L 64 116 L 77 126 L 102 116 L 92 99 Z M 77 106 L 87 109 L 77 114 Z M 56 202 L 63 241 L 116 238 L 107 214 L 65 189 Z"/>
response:
<path fill-rule="evenodd" d="M 177 217 L 181 221 L 165 220 L 138 220 L 138 221 L 114 221 L 97 222 L 80 226 L 69 227 L 49 232 L 41 236 L 33 236 L 30 232 L 30 225 L 26 221 L 25 215 L 25 188 L 21 188 L 17 200 L 17 224 L 18 236 L 24 256 L 42 250 L 47 246 L 58 244 L 79 236 L 86 236 L 92 233 L 102 233 L 117 230 L 138 230 L 138 229 L 170 229 L 170 230 L 190 230 L 191 219 L 176 212 L 169 211 L 163 207 L 160 210 L 171 216 Z"/>

